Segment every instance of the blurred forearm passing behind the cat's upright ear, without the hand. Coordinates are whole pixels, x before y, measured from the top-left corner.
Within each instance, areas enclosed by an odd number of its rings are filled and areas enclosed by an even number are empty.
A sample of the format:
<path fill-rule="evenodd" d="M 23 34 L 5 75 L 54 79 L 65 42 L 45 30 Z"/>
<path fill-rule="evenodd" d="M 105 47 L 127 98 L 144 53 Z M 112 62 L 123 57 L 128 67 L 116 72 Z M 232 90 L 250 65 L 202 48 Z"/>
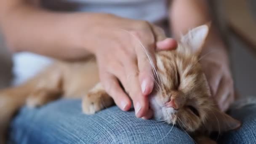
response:
<path fill-rule="evenodd" d="M 171 29 L 174 37 L 178 38 L 189 29 L 211 21 L 205 0 L 174 0 L 170 8 Z M 222 62 L 228 63 L 227 48 L 221 40 L 218 29 L 212 24 L 202 51 L 202 56 L 211 55 Z"/>

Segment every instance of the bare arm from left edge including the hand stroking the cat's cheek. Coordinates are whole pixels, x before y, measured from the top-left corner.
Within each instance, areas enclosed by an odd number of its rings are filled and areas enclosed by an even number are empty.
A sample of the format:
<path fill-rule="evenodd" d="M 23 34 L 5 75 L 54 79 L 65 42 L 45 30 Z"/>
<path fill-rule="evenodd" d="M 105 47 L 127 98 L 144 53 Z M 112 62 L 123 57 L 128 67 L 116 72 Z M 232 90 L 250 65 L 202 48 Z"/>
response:
<path fill-rule="evenodd" d="M 106 13 L 48 11 L 27 0 L 1 1 L 0 5 L 0 25 L 13 51 L 30 51 L 65 60 L 94 54 L 101 82 L 117 106 L 123 110 L 131 107 L 131 101 L 118 84 L 120 80 L 135 104 L 137 117 L 147 114 L 147 95 L 154 80 L 139 41 L 153 63 L 156 45 L 175 48 L 175 42 L 164 40 L 159 28 L 147 21 Z M 162 44 L 161 40 L 164 40 Z"/>

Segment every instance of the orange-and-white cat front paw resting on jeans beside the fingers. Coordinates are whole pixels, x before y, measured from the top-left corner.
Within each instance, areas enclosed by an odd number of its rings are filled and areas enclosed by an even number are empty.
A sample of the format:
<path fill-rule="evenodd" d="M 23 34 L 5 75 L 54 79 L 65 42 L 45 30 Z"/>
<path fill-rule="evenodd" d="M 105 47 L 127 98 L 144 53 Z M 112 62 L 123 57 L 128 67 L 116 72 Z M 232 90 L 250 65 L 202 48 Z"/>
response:
<path fill-rule="evenodd" d="M 113 104 L 114 100 L 107 94 L 101 83 L 95 85 L 82 99 L 82 109 L 87 115 L 95 114 Z"/>

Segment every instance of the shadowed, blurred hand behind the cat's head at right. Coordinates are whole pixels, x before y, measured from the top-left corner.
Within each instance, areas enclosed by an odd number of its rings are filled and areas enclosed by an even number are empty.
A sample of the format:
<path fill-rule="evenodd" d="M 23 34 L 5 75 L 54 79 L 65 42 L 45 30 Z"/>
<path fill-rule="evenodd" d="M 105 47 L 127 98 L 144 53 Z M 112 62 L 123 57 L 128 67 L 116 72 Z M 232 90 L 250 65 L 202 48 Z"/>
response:
<path fill-rule="evenodd" d="M 219 56 L 205 56 L 200 62 L 213 99 L 222 111 L 226 111 L 235 100 L 233 79 L 228 63 Z"/>

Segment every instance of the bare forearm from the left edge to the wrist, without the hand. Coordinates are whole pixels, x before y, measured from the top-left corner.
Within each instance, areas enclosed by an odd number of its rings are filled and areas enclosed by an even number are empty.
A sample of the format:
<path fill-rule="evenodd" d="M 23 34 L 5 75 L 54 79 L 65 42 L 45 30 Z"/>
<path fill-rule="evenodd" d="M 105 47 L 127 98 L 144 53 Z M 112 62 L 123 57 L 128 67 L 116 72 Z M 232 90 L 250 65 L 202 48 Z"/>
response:
<path fill-rule="evenodd" d="M 9 5 L 1 11 L 0 24 L 11 50 L 30 51 L 58 59 L 80 59 L 91 51 L 87 48 L 90 35 L 80 27 L 91 26 L 83 13 L 85 23 L 77 23 L 80 13 L 53 13 L 28 3 Z"/>

